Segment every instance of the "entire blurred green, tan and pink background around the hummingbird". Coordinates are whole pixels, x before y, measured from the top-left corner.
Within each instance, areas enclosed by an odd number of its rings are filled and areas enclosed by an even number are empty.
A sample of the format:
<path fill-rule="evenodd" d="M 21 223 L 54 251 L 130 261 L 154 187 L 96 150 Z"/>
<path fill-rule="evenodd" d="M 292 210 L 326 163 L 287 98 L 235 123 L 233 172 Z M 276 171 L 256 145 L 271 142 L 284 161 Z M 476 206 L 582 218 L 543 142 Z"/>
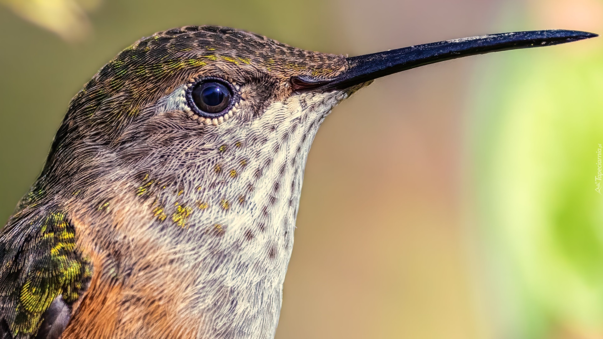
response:
<path fill-rule="evenodd" d="M 202 24 L 358 55 L 600 34 L 603 0 L 0 0 L 0 223 L 104 63 Z M 599 144 L 603 38 L 377 80 L 314 141 L 277 338 L 603 338 Z"/>

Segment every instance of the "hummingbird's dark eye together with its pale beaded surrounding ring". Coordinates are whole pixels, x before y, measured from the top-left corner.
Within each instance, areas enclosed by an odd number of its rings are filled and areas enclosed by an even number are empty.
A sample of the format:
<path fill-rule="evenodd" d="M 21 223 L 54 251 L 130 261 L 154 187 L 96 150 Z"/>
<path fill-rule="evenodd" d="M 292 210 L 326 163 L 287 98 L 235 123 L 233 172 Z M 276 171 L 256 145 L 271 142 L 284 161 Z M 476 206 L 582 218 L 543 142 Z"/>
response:
<path fill-rule="evenodd" d="M 224 116 L 240 99 L 232 84 L 216 77 L 199 78 L 189 84 L 185 97 L 195 114 L 210 119 Z"/>

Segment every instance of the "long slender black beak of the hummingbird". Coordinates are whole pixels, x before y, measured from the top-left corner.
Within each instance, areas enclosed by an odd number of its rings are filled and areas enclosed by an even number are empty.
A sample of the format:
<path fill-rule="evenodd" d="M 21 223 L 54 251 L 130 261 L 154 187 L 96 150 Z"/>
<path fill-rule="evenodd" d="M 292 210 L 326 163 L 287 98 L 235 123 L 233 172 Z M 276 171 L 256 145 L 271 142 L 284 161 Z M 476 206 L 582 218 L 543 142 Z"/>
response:
<path fill-rule="evenodd" d="M 346 59 L 348 69 L 338 77 L 319 80 L 310 76 L 300 76 L 292 78 L 291 83 L 296 90 L 346 89 L 385 75 L 429 65 L 430 63 L 468 55 L 507 51 L 508 49 L 558 45 L 596 36 L 598 34 L 582 31 L 547 30 L 490 34 L 426 43 L 425 45 L 348 57 Z"/>

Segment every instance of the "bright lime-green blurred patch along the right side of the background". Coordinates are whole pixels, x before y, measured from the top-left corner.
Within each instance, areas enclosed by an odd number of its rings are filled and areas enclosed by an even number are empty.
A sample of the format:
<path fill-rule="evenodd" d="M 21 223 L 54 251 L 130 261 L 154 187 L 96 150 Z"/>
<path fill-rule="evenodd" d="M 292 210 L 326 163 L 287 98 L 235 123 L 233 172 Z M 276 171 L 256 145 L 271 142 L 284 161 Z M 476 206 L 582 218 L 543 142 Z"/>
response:
<path fill-rule="evenodd" d="M 478 188 L 513 337 L 603 335 L 603 49 L 513 55 L 476 110 Z M 482 118 L 483 119 L 483 116 Z"/>

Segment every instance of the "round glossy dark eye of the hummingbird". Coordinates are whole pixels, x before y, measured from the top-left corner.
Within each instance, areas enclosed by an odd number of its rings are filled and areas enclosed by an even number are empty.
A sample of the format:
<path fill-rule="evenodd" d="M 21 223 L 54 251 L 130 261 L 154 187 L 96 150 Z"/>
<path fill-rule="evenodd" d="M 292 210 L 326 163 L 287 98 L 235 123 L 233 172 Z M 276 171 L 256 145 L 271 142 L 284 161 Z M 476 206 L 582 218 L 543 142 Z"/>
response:
<path fill-rule="evenodd" d="M 192 101 L 195 108 L 200 111 L 197 112 L 199 115 L 213 118 L 230 108 L 233 93 L 226 83 L 207 79 L 194 84 L 187 97 L 189 104 Z"/>

